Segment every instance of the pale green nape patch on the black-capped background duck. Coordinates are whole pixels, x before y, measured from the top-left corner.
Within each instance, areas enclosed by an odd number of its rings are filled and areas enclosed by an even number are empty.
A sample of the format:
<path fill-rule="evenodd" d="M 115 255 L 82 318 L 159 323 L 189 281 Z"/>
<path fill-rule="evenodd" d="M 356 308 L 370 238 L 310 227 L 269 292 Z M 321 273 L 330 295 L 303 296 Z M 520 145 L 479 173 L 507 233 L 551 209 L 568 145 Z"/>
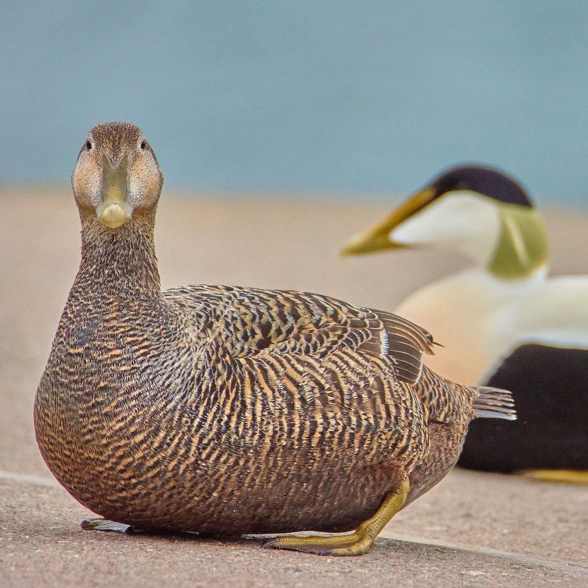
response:
<path fill-rule="evenodd" d="M 547 235 L 534 209 L 497 204 L 500 232 L 486 270 L 497 279 L 525 279 L 546 269 Z"/>

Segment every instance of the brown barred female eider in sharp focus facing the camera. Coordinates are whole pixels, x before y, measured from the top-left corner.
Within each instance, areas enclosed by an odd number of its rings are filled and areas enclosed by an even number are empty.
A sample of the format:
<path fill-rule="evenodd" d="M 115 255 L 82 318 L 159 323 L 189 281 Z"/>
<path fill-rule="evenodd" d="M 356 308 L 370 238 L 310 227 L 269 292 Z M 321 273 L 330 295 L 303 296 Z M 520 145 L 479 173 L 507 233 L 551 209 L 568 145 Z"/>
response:
<path fill-rule="evenodd" d="M 432 339 L 387 312 L 305 292 L 161 291 L 163 176 L 143 133 L 95 126 L 72 175 L 82 259 L 35 399 L 41 453 L 104 519 L 84 528 L 279 536 L 365 553 L 439 482 L 475 416 L 510 394 L 422 365 Z"/>

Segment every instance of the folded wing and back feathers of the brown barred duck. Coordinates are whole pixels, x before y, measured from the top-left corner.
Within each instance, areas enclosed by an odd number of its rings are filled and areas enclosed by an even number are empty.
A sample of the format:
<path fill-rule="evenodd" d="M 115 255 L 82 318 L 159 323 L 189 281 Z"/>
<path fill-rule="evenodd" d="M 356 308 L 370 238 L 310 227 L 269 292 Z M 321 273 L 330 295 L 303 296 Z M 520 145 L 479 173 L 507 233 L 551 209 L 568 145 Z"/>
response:
<path fill-rule="evenodd" d="M 186 286 L 168 300 L 193 309 L 194 328 L 220 338 L 233 357 L 279 353 L 325 358 L 355 350 L 392 362 L 395 376 L 415 384 L 433 338 L 409 320 L 383 310 L 295 290 Z"/>

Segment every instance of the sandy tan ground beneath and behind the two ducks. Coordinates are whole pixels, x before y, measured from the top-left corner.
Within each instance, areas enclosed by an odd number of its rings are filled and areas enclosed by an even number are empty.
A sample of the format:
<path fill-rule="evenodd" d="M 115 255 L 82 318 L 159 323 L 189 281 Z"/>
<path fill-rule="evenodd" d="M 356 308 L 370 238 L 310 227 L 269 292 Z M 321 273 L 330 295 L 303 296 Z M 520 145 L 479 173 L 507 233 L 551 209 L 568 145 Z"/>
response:
<path fill-rule="evenodd" d="M 588 489 L 456 471 L 353 559 L 262 550 L 258 539 L 83 532 L 88 511 L 36 448 L 32 402 L 79 262 L 67 186 L 0 189 L 0 586 L 588 586 Z M 440 253 L 340 260 L 383 201 L 162 197 L 164 287 L 229 283 L 393 308 L 461 265 Z M 550 213 L 553 273 L 588 273 L 588 214 Z M 389 539 L 386 539 L 387 537 Z M 393 538 L 393 539 L 392 539 Z"/>

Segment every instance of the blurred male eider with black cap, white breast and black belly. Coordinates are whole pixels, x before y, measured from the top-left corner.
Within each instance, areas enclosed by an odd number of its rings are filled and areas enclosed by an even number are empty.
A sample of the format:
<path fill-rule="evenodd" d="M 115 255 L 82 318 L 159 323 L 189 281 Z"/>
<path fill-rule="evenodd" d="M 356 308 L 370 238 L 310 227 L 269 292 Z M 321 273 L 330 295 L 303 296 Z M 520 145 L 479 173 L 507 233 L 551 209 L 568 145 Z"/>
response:
<path fill-rule="evenodd" d="M 473 267 L 406 298 L 395 312 L 435 333 L 427 365 L 444 377 L 505 387 L 519 419 L 476 422 L 459 464 L 587 483 L 588 279 L 547 279 L 547 239 L 521 186 L 494 169 L 450 169 L 342 252 L 430 246 Z M 428 359 L 428 358 L 427 358 Z"/>

